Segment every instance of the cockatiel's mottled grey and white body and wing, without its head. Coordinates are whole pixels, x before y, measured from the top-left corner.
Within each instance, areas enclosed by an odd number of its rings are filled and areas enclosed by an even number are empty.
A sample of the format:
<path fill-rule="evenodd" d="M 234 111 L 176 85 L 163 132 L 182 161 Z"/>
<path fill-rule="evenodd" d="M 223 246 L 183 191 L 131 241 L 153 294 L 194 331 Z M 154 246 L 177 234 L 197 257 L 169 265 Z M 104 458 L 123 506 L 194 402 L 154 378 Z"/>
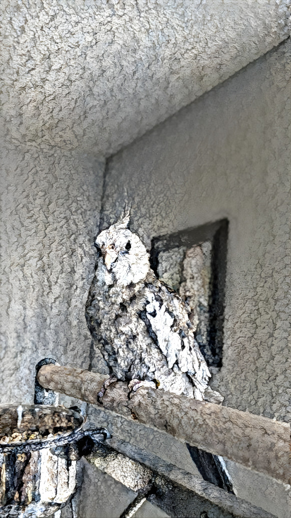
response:
<path fill-rule="evenodd" d="M 102 263 L 98 270 L 87 317 L 94 347 L 111 372 L 123 380 L 155 379 L 164 390 L 190 397 L 194 389 L 201 399 L 208 369 L 182 300 L 153 276 L 120 289 L 104 277 Z"/>

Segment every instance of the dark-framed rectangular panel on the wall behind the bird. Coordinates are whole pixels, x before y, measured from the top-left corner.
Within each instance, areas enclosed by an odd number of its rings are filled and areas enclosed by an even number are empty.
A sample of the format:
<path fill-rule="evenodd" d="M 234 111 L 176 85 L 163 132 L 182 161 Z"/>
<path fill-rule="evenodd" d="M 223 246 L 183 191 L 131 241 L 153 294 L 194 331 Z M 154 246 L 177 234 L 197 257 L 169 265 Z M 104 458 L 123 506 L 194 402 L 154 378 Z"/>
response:
<path fill-rule="evenodd" d="M 227 234 L 224 219 L 155 237 L 151 248 L 151 267 L 187 303 L 196 340 L 212 372 L 223 361 Z"/>

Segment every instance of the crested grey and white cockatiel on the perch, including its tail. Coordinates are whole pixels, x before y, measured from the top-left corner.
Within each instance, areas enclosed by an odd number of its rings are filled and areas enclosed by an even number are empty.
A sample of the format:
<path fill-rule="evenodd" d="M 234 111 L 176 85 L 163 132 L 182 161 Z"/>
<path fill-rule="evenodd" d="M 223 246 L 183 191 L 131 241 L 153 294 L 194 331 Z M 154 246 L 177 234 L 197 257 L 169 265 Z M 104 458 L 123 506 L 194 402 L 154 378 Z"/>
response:
<path fill-rule="evenodd" d="M 129 228 L 129 211 L 101 231 L 87 305 L 91 357 L 99 351 L 113 379 L 203 400 L 211 373 L 194 336 L 190 308 L 158 279 L 150 254 Z M 187 445 L 202 474 L 225 490 L 232 483 L 223 459 Z"/>

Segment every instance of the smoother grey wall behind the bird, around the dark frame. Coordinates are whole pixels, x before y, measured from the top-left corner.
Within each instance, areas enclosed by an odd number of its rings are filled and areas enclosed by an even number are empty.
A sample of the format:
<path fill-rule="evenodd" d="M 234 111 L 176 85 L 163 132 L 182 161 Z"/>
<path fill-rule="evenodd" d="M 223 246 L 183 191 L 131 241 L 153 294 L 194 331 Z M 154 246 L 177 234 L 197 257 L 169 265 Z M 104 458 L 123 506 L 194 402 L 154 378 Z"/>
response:
<path fill-rule="evenodd" d="M 109 162 L 105 224 L 132 200 L 154 236 L 229 219 L 224 404 L 287 420 L 290 42 L 241 70 Z M 114 215 L 115 214 L 115 215 Z"/>

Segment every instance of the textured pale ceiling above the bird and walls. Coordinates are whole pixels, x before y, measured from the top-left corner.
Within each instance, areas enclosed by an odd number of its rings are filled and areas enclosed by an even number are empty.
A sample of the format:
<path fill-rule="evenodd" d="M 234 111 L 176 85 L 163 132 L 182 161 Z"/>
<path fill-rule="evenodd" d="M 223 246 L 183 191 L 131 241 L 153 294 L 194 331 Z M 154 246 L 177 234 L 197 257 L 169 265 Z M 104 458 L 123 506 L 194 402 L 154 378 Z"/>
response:
<path fill-rule="evenodd" d="M 288 3 L 3 0 L 8 138 L 109 156 L 287 38 Z"/>

